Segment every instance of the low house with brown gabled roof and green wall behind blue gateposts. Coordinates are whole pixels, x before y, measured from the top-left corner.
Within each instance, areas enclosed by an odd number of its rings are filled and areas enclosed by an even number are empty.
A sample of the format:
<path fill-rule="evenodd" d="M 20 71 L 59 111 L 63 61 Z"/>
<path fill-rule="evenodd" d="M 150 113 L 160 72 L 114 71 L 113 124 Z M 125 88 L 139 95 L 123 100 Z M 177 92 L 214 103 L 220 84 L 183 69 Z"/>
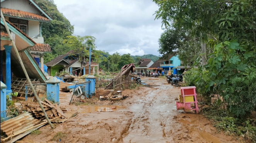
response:
<path fill-rule="evenodd" d="M 88 59 L 89 57 L 85 57 L 85 59 Z M 55 76 L 56 72 L 59 73 L 60 71 L 73 71 L 78 68 L 84 67 L 86 65 L 89 65 L 89 62 L 83 59 L 83 61 L 79 60 L 79 54 L 75 52 L 75 50 L 71 50 L 70 52 L 59 55 L 58 57 L 54 58 L 50 62 L 46 63 L 47 66 L 47 73 L 48 75 Z M 98 73 L 98 63 L 93 62 L 93 58 L 91 58 L 91 69 L 90 73 L 95 73 L 95 67 L 97 67 L 97 73 Z M 89 73 L 89 66 L 85 68 L 78 69 L 78 73 L 82 73 L 82 75 L 87 75 Z M 75 75 L 75 72 L 71 73 Z"/>

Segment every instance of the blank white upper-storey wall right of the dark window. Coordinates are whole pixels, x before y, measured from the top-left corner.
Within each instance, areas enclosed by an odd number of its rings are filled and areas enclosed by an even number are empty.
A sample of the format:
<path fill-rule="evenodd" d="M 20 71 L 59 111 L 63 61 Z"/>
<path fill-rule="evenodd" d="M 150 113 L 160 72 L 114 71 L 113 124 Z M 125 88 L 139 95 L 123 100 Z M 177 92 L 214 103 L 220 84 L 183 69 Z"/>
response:
<path fill-rule="evenodd" d="M 29 37 L 39 37 L 40 36 L 40 26 L 39 26 L 38 21 L 29 20 L 28 29 L 29 29 L 28 30 Z"/>

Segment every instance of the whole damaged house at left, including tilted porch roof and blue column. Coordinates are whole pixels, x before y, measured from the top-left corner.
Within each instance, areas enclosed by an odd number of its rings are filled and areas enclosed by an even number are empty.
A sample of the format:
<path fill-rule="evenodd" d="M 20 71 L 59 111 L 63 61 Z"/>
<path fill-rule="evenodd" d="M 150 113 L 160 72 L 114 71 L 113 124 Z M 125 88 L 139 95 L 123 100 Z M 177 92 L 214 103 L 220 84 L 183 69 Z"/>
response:
<path fill-rule="evenodd" d="M 34 0 L 1 0 L 1 11 L 11 33 L 8 35 L 1 18 L 1 81 L 6 85 L 7 95 L 18 92 L 21 96 L 24 95 L 28 82 L 10 37 L 15 42 L 32 83 L 33 81 L 34 83 L 46 83 L 44 64 L 41 64 L 41 67 L 39 64 L 44 61 L 43 53 L 51 52 L 51 48 L 48 44 L 44 44 L 41 24 L 42 22 L 51 22 L 53 19 Z M 2 105 L 4 105 L 4 100 L 1 100 L 1 111 L 3 111 Z"/>

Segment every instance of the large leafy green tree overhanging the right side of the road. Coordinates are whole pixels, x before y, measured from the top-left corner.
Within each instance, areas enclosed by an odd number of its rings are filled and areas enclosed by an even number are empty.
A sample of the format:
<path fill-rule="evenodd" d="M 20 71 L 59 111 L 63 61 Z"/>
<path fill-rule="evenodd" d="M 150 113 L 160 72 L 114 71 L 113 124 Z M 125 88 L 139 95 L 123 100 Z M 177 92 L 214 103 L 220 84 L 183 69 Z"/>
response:
<path fill-rule="evenodd" d="M 153 1 L 160 7 L 155 14 L 156 18 L 162 18 L 163 25 L 167 27 L 173 22 L 175 28 L 191 31 L 194 38 L 200 37 L 202 65 L 206 59 L 203 43 L 211 48 L 202 73 L 207 83 L 205 91 L 217 90 L 234 116 L 245 118 L 255 110 L 255 95 L 244 96 L 247 90 L 254 89 L 235 88 L 248 85 L 249 77 L 255 78 L 255 0 Z M 255 85 L 255 80 L 249 81 Z"/>

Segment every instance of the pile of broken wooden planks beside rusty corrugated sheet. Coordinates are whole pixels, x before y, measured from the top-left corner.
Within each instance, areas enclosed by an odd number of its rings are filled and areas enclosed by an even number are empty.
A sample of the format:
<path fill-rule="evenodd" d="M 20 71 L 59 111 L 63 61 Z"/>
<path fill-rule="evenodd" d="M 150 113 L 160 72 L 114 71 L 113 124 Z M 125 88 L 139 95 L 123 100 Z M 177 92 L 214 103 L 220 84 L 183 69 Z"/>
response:
<path fill-rule="evenodd" d="M 22 109 L 34 113 L 36 118 L 44 118 L 44 113 L 42 112 L 39 103 L 29 101 L 20 101 L 20 103 L 22 105 Z M 46 111 L 48 118 L 53 119 L 58 116 L 60 116 L 61 118 L 66 118 L 63 113 L 63 111 L 67 111 L 65 108 L 60 108 L 56 103 L 53 104 L 47 99 L 44 99 L 44 101 L 41 101 L 41 103 L 44 110 Z"/>

